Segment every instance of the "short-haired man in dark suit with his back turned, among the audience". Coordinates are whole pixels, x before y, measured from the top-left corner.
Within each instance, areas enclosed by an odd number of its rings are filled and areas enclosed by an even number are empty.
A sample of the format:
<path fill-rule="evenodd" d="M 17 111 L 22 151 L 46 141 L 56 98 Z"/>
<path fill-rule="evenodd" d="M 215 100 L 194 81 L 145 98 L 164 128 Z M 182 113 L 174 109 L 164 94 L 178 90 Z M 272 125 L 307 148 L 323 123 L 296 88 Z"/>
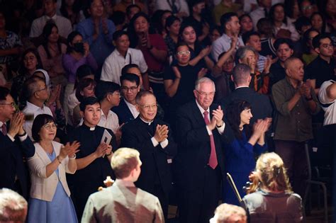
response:
<path fill-rule="evenodd" d="M 227 98 L 221 101 L 222 108 L 226 108 L 231 102 L 235 100 L 244 100 L 251 104 L 251 113 L 253 117 L 250 124 L 258 119 L 271 118 L 272 107 L 269 97 L 257 93 L 254 89 L 250 88 L 251 82 L 251 69 L 246 64 L 237 64 L 233 69 L 232 80 L 235 83 L 235 91 L 230 93 Z"/>

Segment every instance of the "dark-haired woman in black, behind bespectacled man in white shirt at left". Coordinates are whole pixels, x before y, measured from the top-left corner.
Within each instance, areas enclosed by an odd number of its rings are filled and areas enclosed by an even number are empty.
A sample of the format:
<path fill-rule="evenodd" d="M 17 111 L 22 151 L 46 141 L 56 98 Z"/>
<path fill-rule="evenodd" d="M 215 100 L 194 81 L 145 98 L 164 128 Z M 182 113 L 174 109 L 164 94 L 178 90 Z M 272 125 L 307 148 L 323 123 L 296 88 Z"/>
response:
<path fill-rule="evenodd" d="M 40 56 L 35 49 L 29 48 L 23 52 L 21 67 L 18 69 L 18 76 L 14 77 L 11 86 L 11 96 L 13 96 L 16 103 L 20 101 L 19 96 L 21 96 L 23 83 L 34 74 L 36 69 L 40 68 L 40 64 Z"/>

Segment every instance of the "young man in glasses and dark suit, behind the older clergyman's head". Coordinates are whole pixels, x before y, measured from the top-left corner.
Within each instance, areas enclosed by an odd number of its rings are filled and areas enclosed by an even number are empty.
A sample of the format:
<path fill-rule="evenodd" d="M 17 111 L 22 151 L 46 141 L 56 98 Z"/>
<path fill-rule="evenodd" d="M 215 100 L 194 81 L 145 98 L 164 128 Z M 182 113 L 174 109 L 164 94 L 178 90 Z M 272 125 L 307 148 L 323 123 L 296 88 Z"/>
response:
<path fill-rule="evenodd" d="M 139 112 L 135 108 L 135 97 L 140 91 L 140 79 L 135 74 L 123 74 L 121 76 L 121 95 L 123 99 L 112 111 L 118 115 L 119 125 L 127 123 L 138 117 Z"/>

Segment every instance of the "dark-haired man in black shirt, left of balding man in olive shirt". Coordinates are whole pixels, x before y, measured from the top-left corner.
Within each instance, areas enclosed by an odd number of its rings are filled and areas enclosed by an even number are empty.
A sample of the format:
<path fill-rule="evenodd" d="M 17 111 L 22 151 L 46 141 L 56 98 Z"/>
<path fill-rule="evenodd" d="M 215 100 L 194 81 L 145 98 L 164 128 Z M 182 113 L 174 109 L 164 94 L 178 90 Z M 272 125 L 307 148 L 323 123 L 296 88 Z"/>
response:
<path fill-rule="evenodd" d="M 274 64 L 271 64 L 271 68 L 269 69 L 269 89 L 273 84 L 282 80 L 286 76 L 285 72 L 285 61 L 289 57 L 293 55 L 293 42 L 291 39 L 279 38 L 274 42 L 274 47 L 276 50 L 276 57 L 278 57 L 278 61 Z"/>

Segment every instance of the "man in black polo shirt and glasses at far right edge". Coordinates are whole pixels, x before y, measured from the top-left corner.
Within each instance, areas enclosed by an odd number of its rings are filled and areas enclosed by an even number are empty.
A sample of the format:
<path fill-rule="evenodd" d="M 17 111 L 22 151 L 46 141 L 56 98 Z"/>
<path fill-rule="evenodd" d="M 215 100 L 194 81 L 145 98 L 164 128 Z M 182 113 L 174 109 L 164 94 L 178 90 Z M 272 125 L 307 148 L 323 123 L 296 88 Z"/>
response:
<path fill-rule="evenodd" d="M 318 57 L 307 66 L 306 79 L 310 79 L 311 86 L 318 93 L 324 81 L 336 81 L 336 63 L 332 58 L 334 46 L 329 35 L 316 35 L 313 38 L 313 47 L 318 52 Z"/>

